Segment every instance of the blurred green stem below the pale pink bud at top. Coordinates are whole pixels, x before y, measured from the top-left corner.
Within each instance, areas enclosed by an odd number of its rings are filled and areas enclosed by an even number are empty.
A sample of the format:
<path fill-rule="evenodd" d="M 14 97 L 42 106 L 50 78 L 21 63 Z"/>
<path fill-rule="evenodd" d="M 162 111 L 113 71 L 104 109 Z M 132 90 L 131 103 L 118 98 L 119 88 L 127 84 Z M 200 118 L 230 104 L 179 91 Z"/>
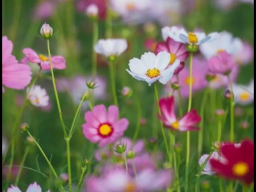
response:
<path fill-rule="evenodd" d="M 97 76 L 97 52 L 94 51 L 94 45 L 97 44 L 99 29 L 98 29 L 98 19 L 93 19 L 93 37 L 92 37 L 92 75 Z"/>

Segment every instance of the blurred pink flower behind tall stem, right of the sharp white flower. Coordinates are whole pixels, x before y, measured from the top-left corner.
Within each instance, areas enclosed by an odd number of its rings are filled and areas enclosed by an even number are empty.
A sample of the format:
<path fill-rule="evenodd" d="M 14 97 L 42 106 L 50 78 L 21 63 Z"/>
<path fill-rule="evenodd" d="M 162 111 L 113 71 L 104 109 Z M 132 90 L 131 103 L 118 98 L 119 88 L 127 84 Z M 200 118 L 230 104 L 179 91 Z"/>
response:
<path fill-rule="evenodd" d="M 205 74 L 208 70 L 207 60 L 198 57 L 193 58 L 193 73 L 192 73 L 192 91 L 202 90 L 207 86 Z M 179 85 L 181 97 L 189 97 L 189 67 L 184 67 L 179 72 Z M 177 82 L 177 77 L 173 76 L 171 81 L 166 84 L 166 93 L 170 93 L 170 83 Z"/>

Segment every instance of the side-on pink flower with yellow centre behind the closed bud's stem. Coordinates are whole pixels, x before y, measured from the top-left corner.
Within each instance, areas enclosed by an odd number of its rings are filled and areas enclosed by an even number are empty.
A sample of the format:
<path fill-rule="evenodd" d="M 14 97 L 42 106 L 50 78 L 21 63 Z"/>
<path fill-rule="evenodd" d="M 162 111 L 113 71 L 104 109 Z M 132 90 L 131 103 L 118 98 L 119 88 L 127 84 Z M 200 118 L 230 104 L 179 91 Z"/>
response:
<path fill-rule="evenodd" d="M 20 62 L 24 64 L 28 64 L 28 62 L 36 63 L 40 65 L 42 70 L 51 70 L 49 57 L 44 56 L 43 54 L 36 54 L 33 49 L 24 48 L 22 51 L 25 54 L 25 58 L 23 58 Z M 64 69 L 66 68 L 66 60 L 63 56 L 51 56 L 52 59 L 52 68 L 56 69 Z"/>

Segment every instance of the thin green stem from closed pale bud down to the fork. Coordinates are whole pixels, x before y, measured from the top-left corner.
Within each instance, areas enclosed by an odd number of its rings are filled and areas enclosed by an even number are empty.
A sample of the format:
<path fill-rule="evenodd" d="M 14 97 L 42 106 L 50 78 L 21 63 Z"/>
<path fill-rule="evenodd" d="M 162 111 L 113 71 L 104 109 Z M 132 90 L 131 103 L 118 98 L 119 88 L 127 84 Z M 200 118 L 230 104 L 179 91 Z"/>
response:
<path fill-rule="evenodd" d="M 47 39 L 47 50 L 48 50 L 49 60 L 50 60 L 50 65 L 51 65 L 52 85 L 53 85 L 53 88 L 54 88 L 54 94 L 55 94 L 55 97 L 56 97 L 56 102 L 57 102 L 58 111 L 59 111 L 59 115 L 60 115 L 61 127 L 63 129 L 64 136 L 67 137 L 67 131 L 65 129 L 65 125 L 64 125 L 64 122 L 63 122 L 63 118 L 62 118 L 62 113 L 61 113 L 61 108 L 60 108 L 60 100 L 59 100 L 59 96 L 58 96 L 58 92 L 57 92 L 57 88 L 56 88 L 56 83 L 55 83 L 55 78 L 54 78 L 54 73 L 53 73 L 53 68 L 52 68 L 52 58 L 51 58 L 49 39 Z"/>

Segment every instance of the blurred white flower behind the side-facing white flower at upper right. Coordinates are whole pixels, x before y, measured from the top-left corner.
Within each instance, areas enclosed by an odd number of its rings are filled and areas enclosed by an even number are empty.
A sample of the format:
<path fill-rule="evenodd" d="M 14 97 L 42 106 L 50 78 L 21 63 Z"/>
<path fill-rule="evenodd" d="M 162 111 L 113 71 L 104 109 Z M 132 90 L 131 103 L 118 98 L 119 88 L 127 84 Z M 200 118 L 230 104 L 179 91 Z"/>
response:
<path fill-rule="evenodd" d="M 206 42 L 200 45 L 199 50 L 204 57 L 209 60 L 211 56 L 215 56 L 219 51 L 227 51 L 228 54 L 234 56 L 243 49 L 243 42 L 239 38 L 234 38 L 231 33 L 222 31 L 220 35 L 212 42 Z"/>

